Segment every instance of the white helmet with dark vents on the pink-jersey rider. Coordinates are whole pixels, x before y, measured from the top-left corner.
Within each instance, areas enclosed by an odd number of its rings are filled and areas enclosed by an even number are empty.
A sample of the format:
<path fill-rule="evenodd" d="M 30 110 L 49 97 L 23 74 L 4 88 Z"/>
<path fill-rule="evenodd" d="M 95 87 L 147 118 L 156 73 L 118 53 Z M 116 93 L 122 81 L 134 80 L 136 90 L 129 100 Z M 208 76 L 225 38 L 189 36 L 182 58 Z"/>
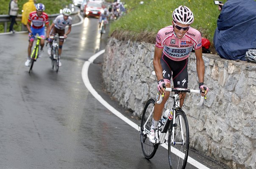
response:
<path fill-rule="evenodd" d="M 187 25 L 194 22 L 194 15 L 186 6 L 179 6 L 173 11 L 173 21 Z"/>

